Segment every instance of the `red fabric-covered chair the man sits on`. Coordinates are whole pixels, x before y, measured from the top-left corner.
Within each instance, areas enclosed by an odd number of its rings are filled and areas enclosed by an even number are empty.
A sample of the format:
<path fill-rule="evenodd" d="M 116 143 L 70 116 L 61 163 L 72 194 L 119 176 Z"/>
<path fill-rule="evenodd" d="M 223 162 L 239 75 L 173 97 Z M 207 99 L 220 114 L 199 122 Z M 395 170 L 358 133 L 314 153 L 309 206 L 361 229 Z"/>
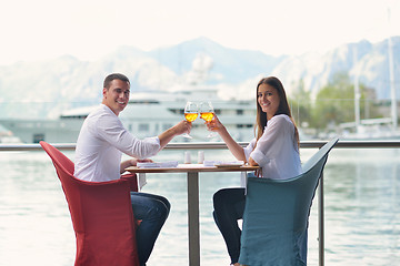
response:
<path fill-rule="evenodd" d="M 138 266 L 136 221 L 130 191 L 136 175 L 110 182 L 86 182 L 73 176 L 73 163 L 46 142 L 61 181 L 77 237 L 76 266 Z"/>

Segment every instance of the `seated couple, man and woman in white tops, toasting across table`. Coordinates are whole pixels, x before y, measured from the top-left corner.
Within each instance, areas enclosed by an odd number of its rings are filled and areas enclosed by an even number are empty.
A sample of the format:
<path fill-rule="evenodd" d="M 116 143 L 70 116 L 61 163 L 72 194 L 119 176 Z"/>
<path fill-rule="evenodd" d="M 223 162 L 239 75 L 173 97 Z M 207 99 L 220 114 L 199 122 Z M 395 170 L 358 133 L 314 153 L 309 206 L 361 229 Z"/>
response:
<path fill-rule="evenodd" d="M 259 165 L 260 170 L 254 173 L 257 176 L 281 180 L 300 174 L 299 134 L 281 82 L 274 76 L 262 79 L 256 93 L 257 136 L 247 147 L 231 137 L 217 116 L 206 122 L 208 129 L 219 133 L 239 161 Z M 77 178 L 90 182 L 118 180 L 124 168 L 148 162 L 174 136 L 191 130 L 190 122 L 181 121 L 158 136 L 139 140 L 118 117 L 129 101 L 129 79 L 120 73 L 108 75 L 102 95 L 102 104 L 88 115 L 77 141 Z M 121 162 L 122 153 L 132 158 Z M 240 229 L 237 219 L 243 214 L 244 188 L 221 190 L 214 194 L 213 201 L 213 216 L 226 241 L 231 264 L 239 265 Z M 139 192 L 131 193 L 131 202 L 136 218 L 141 219 L 137 231 L 138 256 L 140 265 L 146 265 L 168 217 L 170 204 L 162 196 Z"/>

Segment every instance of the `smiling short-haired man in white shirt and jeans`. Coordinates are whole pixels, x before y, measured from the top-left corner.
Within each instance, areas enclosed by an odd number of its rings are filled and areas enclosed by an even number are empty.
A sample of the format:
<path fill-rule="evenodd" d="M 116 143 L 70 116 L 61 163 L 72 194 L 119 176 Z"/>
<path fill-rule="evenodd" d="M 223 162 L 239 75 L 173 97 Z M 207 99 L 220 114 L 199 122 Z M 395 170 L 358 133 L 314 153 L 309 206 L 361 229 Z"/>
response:
<path fill-rule="evenodd" d="M 91 182 L 120 178 L 124 168 L 148 161 L 174 136 L 190 132 L 191 123 L 181 121 L 158 136 L 138 140 L 128 132 L 118 115 L 127 106 L 129 79 L 113 73 L 104 79 L 102 104 L 83 122 L 76 149 L 74 176 Z M 122 153 L 132 156 L 121 163 Z M 137 231 L 140 265 L 146 265 L 164 224 L 170 203 L 167 198 L 146 193 L 131 193 L 134 216 L 142 219 Z"/>

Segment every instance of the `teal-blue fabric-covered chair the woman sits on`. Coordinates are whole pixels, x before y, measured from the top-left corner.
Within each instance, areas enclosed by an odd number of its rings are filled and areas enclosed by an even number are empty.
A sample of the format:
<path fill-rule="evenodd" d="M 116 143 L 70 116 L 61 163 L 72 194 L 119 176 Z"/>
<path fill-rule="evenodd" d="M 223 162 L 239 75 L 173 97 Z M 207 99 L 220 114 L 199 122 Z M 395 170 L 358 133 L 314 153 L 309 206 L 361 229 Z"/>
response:
<path fill-rule="evenodd" d="M 303 173 L 277 181 L 249 177 L 239 263 L 307 265 L 307 228 L 312 198 L 328 154 L 338 139 L 324 144 Z"/>

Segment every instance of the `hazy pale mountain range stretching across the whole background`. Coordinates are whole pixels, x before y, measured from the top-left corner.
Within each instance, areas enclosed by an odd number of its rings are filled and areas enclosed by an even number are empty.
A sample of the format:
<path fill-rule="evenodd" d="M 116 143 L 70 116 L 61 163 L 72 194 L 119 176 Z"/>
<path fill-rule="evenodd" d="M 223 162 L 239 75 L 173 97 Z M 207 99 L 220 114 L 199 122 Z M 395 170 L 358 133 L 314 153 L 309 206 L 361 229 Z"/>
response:
<path fill-rule="evenodd" d="M 400 37 L 391 40 L 399 91 Z M 350 76 L 359 73 L 360 82 L 374 89 L 379 99 L 389 99 L 388 40 L 347 43 L 324 54 L 273 57 L 198 38 L 152 51 L 121 47 L 90 62 L 71 55 L 18 62 L 0 66 L 0 117 L 56 117 L 70 108 L 99 103 L 102 81 L 111 72 L 127 74 L 132 93 L 203 83 L 217 88 L 224 99 L 252 99 L 261 76 L 280 78 L 289 95 L 302 80 L 314 94 L 343 71 Z"/>

